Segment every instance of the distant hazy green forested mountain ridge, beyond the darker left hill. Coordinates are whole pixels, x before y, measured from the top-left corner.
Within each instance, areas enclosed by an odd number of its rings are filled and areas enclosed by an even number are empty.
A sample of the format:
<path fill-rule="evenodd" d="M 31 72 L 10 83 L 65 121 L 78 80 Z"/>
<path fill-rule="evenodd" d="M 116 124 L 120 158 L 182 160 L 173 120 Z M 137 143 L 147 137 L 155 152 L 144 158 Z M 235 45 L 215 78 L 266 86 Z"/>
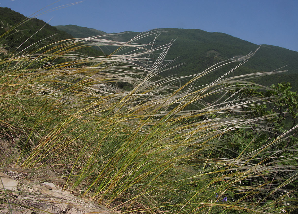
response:
<path fill-rule="evenodd" d="M 80 37 L 89 37 L 107 34 L 103 31 L 76 25 L 55 27 L 72 34 L 74 37 L 79 35 Z M 219 61 L 254 52 L 260 46 L 225 33 L 210 33 L 200 29 L 164 28 L 155 30 L 161 32 L 155 40 L 157 45 L 163 45 L 169 43 L 171 40 L 175 40 L 167 53 L 166 60 L 173 60 L 178 57 L 173 65 L 185 63 L 165 72 L 163 74 L 164 76 L 196 74 Z M 127 42 L 139 33 L 122 32 L 119 35 L 109 37 L 109 39 Z M 153 36 L 149 36 L 139 40 L 139 43 L 149 43 L 153 39 Z M 103 50 L 105 51 L 105 49 Z M 106 52 L 106 54 L 108 53 Z M 290 82 L 293 90 L 298 90 L 298 87 L 296 87 L 296 80 L 298 79 L 298 52 L 277 46 L 261 45 L 256 54 L 247 63 L 237 69 L 238 73 L 235 73 L 235 75 L 258 71 L 273 71 L 281 67 L 284 67 L 281 70 L 287 70 L 287 72 L 253 79 L 253 81 L 267 86 L 277 84 L 278 82 Z M 214 78 L 223 73 L 224 71 L 221 72 L 219 70 L 211 75 Z M 209 78 L 211 77 L 202 78 L 201 83 L 208 82 Z"/>

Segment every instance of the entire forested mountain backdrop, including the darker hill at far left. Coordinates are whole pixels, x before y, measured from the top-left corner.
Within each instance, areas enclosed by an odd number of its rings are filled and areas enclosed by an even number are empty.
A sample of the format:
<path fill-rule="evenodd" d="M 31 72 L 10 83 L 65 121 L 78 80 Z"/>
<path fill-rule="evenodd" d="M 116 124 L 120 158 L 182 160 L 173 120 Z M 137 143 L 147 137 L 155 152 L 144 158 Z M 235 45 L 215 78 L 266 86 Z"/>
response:
<path fill-rule="evenodd" d="M 20 23 L 25 19 L 26 17 L 18 12 L 9 8 L 0 7 L 0 34 L 2 35 L 7 32 L 7 30 L 15 26 L 16 23 Z M 162 73 L 163 76 L 186 76 L 190 74 L 197 74 L 219 61 L 227 60 L 239 55 L 246 55 L 255 51 L 259 47 L 259 45 L 251 42 L 219 32 L 210 33 L 199 29 L 176 28 L 155 30 L 161 32 L 155 39 L 155 44 L 163 45 L 169 43 L 171 40 L 175 40 L 167 53 L 166 60 L 173 60 L 177 58 L 172 65 L 184 63 L 179 67 Z M 10 34 L 9 37 L 1 37 L 1 43 L 5 44 L 6 49 L 9 49 L 9 51 L 12 51 L 16 47 L 20 46 L 27 39 L 28 40 L 19 49 L 30 46 L 31 44 L 44 38 L 47 38 L 46 41 L 53 42 L 72 37 L 78 38 L 106 35 L 105 38 L 107 39 L 127 42 L 136 35 L 140 34 L 140 32 L 122 32 L 120 34 L 113 34 L 109 36 L 103 31 L 76 25 L 53 27 L 37 18 L 30 19 L 22 25 L 17 26 L 15 31 L 16 32 Z M 30 38 L 30 36 L 35 32 L 36 34 Z M 146 44 L 150 43 L 154 38 L 155 36 L 148 36 L 142 38 L 138 42 Z M 105 54 L 109 54 L 113 51 L 111 47 L 109 47 L 109 49 L 101 47 L 101 49 L 105 52 Z M 100 49 L 87 49 L 84 53 L 91 56 L 102 55 Z M 293 86 L 293 90 L 298 90 L 297 51 L 291 51 L 277 46 L 261 45 L 256 54 L 247 63 L 237 69 L 234 74 L 239 75 L 257 71 L 272 71 L 281 67 L 284 67 L 282 70 L 287 70 L 287 72 L 253 79 L 253 81 L 267 86 L 277 84 L 279 82 L 290 82 Z M 210 78 L 221 76 L 224 72 L 225 71 L 223 69 L 213 72 L 210 74 L 211 76 L 201 78 L 201 82 L 199 84 L 205 84 Z"/>

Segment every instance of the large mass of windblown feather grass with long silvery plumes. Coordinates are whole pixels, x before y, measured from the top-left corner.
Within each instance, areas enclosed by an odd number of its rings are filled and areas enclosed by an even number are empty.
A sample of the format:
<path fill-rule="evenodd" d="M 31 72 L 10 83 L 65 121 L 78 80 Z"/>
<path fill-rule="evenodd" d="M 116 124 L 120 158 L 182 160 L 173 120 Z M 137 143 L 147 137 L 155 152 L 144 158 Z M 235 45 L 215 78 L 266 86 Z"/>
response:
<path fill-rule="evenodd" d="M 102 36 L 32 44 L 2 56 L 1 139 L 18 150 L 13 163 L 54 172 L 57 177 L 46 180 L 57 179 L 122 213 L 294 212 L 297 196 L 287 188 L 297 180 L 297 166 L 274 159 L 268 164 L 273 156 L 264 152 L 288 133 L 254 151 L 226 146 L 238 137 L 272 131 L 263 122 L 272 115 L 246 117 L 243 109 L 266 101 L 241 96 L 241 88 L 253 76 L 278 71 L 228 76 L 252 53 L 197 75 L 160 78 L 159 72 L 170 68 L 164 57 L 171 43 L 137 43 L 158 34 L 145 33 L 129 43 Z M 86 46 L 119 49 L 100 57 L 77 52 Z M 196 86 L 201 76 L 229 63 L 238 65 Z M 239 130 L 247 133 L 235 135 Z"/>

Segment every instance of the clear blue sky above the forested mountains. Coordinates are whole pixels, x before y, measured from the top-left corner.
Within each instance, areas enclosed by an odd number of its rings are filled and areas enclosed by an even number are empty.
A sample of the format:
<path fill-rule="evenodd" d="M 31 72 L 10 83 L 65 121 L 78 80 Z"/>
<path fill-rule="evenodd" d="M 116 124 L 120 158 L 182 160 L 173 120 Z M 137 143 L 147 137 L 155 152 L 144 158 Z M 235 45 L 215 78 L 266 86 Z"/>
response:
<path fill-rule="evenodd" d="M 0 0 L 0 7 L 30 16 L 52 3 L 38 13 L 77 1 Z M 298 0 L 85 0 L 37 18 L 107 33 L 201 29 L 298 51 Z"/>

